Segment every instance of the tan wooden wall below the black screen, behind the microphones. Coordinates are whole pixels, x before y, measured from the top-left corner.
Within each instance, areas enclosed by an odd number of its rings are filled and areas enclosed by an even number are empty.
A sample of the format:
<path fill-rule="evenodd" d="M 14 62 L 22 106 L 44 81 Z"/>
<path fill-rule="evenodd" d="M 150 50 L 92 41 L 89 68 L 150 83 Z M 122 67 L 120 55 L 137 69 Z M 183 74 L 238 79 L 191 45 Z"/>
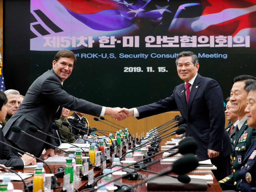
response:
<path fill-rule="evenodd" d="M 73 113 L 73 111 L 70 111 L 69 115 L 71 115 L 72 113 Z M 114 122 L 115 124 L 118 124 L 120 126 L 128 128 L 130 133 L 132 135 L 134 134 L 134 136 L 136 137 L 136 133 L 138 133 L 138 136 L 139 136 L 143 132 L 144 132 L 144 136 L 146 136 L 146 132 L 148 132 L 149 130 L 151 130 L 154 127 L 158 127 L 158 126 L 164 124 L 165 122 L 168 122 L 169 120 L 173 119 L 176 115 L 180 115 L 180 112 L 178 112 L 178 111 L 166 112 L 166 113 L 158 114 L 158 115 L 151 116 L 148 118 L 144 118 L 141 120 L 137 120 L 136 118 L 130 117 L 130 118 L 127 118 L 126 120 L 123 120 L 120 122 L 114 120 L 111 116 L 108 116 L 108 115 L 104 116 L 104 118 L 106 118 L 107 120 L 109 120 L 111 122 Z M 88 119 L 91 128 L 96 127 L 97 129 L 101 129 L 101 130 L 114 131 L 114 132 L 118 131 L 114 127 L 111 127 L 111 126 L 104 124 L 102 122 L 99 122 L 99 121 L 95 121 L 93 119 L 94 116 L 91 116 L 91 115 L 84 115 L 84 116 Z M 109 123 L 113 126 L 116 126 L 110 122 L 107 122 L 106 120 L 104 120 L 104 122 Z M 227 124 L 228 124 L 228 121 L 226 120 L 225 127 Z M 118 126 L 116 126 L 116 127 L 118 127 Z M 172 130 L 169 130 L 168 132 L 171 132 L 171 131 Z M 99 136 L 102 136 L 102 134 L 100 134 L 100 133 L 97 133 L 97 134 Z M 162 140 L 162 142 L 170 141 L 171 138 L 174 138 L 174 137 L 175 136 L 165 138 Z M 141 138 L 141 136 L 140 136 L 140 138 Z"/>

